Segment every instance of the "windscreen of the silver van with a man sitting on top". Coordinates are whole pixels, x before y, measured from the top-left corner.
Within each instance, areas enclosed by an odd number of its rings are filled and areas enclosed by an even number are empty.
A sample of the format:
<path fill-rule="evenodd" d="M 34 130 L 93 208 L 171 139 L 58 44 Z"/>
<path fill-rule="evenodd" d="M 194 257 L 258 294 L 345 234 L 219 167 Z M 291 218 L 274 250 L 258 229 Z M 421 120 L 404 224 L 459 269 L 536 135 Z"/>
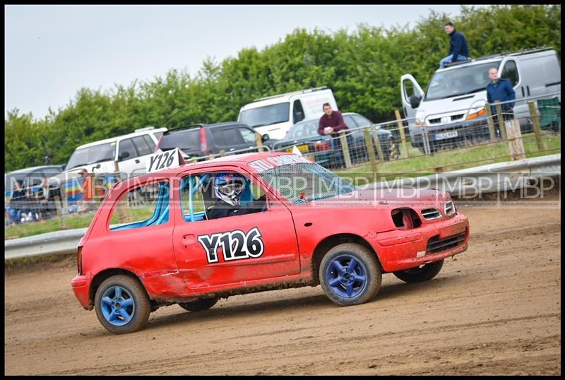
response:
<path fill-rule="evenodd" d="M 498 69 L 500 62 L 439 71 L 429 81 L 424 100 L 439 100 L 486 90 L 490 83 L 489 69 Z"/>

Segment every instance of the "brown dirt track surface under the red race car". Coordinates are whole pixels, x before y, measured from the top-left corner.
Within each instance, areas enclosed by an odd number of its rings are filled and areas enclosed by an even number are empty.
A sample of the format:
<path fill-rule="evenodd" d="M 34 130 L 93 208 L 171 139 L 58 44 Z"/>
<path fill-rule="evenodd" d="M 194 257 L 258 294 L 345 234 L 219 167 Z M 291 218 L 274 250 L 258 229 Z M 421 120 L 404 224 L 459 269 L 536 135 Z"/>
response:
<path fill-rule="evenodd" d="M 427 283 L 392 274 L 373 301 L 321 287 L 177 305 L 115 336 L 84 311 L 74 261 L 6 272 L 5 374 L 561 374 L 557 208 L 465 208 L 468 251 Z"/>

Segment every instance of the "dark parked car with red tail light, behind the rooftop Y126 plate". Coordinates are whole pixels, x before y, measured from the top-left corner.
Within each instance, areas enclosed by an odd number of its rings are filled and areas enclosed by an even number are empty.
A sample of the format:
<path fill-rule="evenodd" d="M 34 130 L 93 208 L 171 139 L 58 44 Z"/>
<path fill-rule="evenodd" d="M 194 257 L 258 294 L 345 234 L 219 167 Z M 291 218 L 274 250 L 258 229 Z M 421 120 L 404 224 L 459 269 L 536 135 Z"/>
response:
<path fill-rule="evenodd" d="M 217 155 L 220 150 L 227 155 L 249 153 L 257 151 L 256 133 L 255 129 L 238 121 L 179 126 L 163 133 L 155 152 L 179 148 L 184 158 Z M 263 143 L 269 140 L 268 134 L 261 136 Z"/>

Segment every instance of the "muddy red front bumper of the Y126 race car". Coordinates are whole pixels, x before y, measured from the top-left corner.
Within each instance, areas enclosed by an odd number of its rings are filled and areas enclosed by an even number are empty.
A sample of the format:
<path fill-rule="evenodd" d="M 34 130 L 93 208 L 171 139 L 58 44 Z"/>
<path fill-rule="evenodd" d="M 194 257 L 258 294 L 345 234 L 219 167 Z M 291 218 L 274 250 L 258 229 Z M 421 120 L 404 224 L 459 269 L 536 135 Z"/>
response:
<path fill-rule="evenodd" d="M 467 249 L 468 239 L 469 221 L 456 214 L 412 230 L 383 232 L 369 243 L 383 271 L 395 272 L 460 254 Z"/>

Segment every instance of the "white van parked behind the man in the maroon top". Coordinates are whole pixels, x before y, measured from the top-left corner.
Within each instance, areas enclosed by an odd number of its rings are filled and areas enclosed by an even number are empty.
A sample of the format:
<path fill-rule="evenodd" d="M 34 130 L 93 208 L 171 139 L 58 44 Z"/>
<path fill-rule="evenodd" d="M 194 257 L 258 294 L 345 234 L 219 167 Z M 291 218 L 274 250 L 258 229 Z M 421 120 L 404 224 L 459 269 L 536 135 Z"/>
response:
<path fill-rule="evenodd" d="M 338 109 L 332 90 L 326 87 L 263 97 L 244 105 L 237 121 L 251 126 L 261 135 L 280 139 L 298 121 L 321 117 L 326 102 L 332 109 Z"/>

